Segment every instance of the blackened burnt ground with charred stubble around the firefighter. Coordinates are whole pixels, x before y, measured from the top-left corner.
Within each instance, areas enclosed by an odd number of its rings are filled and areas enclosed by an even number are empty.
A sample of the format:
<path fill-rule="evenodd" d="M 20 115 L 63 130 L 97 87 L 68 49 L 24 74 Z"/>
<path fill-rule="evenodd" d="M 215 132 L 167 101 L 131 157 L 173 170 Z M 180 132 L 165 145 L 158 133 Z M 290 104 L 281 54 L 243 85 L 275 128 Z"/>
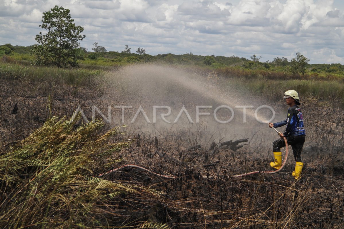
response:
<path fill-rule="evenodd" d="M 150 107 L 157 98 L 147 93 L 139 96 L 137 88 L 131 87 L 125 91 L 118 87 L 109 93 L 108 88 L 45 85 L 44 82 L 2 80 L 1 85 L 2 150 L 27 137 L 51 115 L 69 118 L 80 106 L 86 117 L 91 117 L 91 106 L 95 104 L 103 113 L 108 105 L 132 105 L 135 109 L 125 114 L 131 119 L 139 105 Z M 169 91 L 169 94 L 162 96 L 159 90 Z M 168 104 L 179 109 L 180 105 L 185 105 L 189 110 L 200 100 L 202 105 L 216 107 L 221 104 L 199 91 L 184 92 L 182 87 L 166 86 L 159 90 L 155 91 L 160 95 L 159 105 Z M 140 100 L 135 100 L 137 97 Z M 281 117 L 287 109 L 283 101 L 267 104 L 281 110 L 277 112 Z M 123 194 L 114 200 L 117 207 L 113 210 L 121 212 L 113 216 L 114 220 L 119 225 L 154 220 L 167 223 L 171 228 L 344 228 L 344 111 L 312 99 L 304 100 L 301 108 L 307 140 L 302 154 L 305 166 L 297 182 L 291 176 L 294 161 L 290 147 L 282 172 L 259 173 L 242 179 L 231 177 L 256 170 L 271 171 L 269 145 L 276 134 L 272 138 L 261 136 L 270 130 L 224 134 L 222 141 L 242 138 L 255 141 L 240 149 L 213 152 L 208 150 L 211 143 L 218 143 L 221 138 L 203 141 L 205 130 L 202 128 L 165 128 L 157 134 L 129 126 L 123 140 L 135 140 L 130 148 L 120 153 L 120 165 L 139 164 L 178 178 L 166 180 L 132 169 L 109 174 L 107 179 L 143 184 L 162 192 L 160 196 L 150 197 Z M 107 124 L 105 129 L 119 124 Z M 95 173 L 106 170 L 108 168 L 99 167 Z M 200 175 L 220 178 L 200 179 Z"/>

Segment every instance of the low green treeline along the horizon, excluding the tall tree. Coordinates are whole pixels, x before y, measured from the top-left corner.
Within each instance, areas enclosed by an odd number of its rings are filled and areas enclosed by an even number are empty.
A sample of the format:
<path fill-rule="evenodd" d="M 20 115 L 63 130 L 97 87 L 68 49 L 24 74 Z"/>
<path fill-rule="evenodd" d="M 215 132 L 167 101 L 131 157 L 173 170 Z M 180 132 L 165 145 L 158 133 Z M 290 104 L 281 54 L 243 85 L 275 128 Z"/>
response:
<path fill-rule="evenodd" d="M 35 45 L 18 46 L 4 44 L 0 46 L 0 56 L 6 55 L 11 62 L 30 64 L 33 57 L 30 56 L 30 50 Z M 252 55 L 250 59 L 238 56 L 202 56 L 186 53 L 158 54 L 149 55 L 143 48 L 138 48 L 136 53 L 131 52 L 131 48 L 126 45 L 123 51 L 106 51 L 104 46 L 94 43 L 94 52 L 89 52 L 87 48 L 78 47 L 75 49 L 78 63 L 81 67 L 97 68 L 97 66 L 126 65 L 130 63 L 158 62 L 178 65 L 196 65 L 209 69 L 216 69 L 223 75 L 236 74 L 240 76 L 263 75 L 267 78 L 332 78 L 338 79 L 344 77 L 344 66 L 342 64 L 308 64 L 309 59 L 301 54 L 288 60 L 285 57 L 275 57 L 272 61 L 261 62 L 260 58 Z M 300 66 L 302 65 L 302 66 Z"/>

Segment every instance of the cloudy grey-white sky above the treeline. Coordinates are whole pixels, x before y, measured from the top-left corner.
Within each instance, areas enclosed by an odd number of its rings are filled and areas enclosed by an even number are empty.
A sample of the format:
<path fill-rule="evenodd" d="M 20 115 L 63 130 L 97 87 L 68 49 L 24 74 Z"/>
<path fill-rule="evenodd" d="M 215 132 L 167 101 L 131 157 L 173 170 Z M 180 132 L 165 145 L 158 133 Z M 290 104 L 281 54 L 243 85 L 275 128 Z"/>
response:
<path fill-rule="evenodd" d="M 342 0 L 0 0 L 0 44 L 28 46 L 55 5 L 84 27 L 81 46 L 148 54 L 295 57 L 344 64 Z"/>

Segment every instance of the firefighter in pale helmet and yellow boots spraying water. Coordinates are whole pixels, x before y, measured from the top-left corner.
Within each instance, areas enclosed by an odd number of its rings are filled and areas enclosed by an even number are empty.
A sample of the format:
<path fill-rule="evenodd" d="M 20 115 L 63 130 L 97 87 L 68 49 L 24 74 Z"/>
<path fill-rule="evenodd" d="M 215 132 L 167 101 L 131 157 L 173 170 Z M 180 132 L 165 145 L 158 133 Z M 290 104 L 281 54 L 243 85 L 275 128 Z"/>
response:
<path fill-rule="evenodd" d="M 284 133 L 279 134 L 281 138 L 272 143 L 275 161 L 271 162 L 270 166 L 276 169 L 281 167 L 282 153 L 280 148 L 286 146 L 283 140 L 283 137 L 286 137 L 288 145 L 291 145 L 296 162 L 292 175 L 295 179 L 299 179 L 303 167 L 301 152 L 306 137 L 302 112 L 299 108 L 301 103 L 298 92 L 294 90 L 286 91 L 283 98 L 286 99 L 287 105 L 289 105 L 287 119 L 276 123 L 269 122 L 269 127 L 277 128 L 284 125 L 287 125 L 287 127 Z"/>

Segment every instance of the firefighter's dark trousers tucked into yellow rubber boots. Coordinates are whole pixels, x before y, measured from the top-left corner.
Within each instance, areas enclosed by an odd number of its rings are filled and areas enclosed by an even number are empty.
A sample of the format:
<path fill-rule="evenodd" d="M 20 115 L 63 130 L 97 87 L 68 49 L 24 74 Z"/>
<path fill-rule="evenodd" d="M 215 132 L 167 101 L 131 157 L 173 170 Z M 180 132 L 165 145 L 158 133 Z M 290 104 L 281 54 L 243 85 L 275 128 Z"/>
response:
<path fill-rule="evenodd" d="M 306 135 L 287 136 L 286 138 L 288 145 L 291 145 L 291 148 L 293 149 L 295 161 L 302 162 L 301 152 Z M 286 146 L 286 143 L 284 143 L 283 138 L 279 138 L 272 143 L 273 152 L 281 152 L 280 148 L 284 146 Z"/>

